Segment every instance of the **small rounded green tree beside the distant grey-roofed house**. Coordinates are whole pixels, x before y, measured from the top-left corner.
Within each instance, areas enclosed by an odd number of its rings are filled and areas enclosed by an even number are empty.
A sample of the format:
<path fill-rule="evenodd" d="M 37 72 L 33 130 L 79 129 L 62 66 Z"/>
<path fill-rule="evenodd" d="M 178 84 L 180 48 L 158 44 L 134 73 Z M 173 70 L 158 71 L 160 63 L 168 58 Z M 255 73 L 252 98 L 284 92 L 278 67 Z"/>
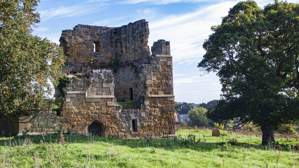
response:
<path fill-rule="evenodd" d="M 209 119 L 205 116 L 207 109 L 203 107 L 194 107 L 194 110 L 191 109 L 188 111 L 188 118 L 190 122 L 188 123 L 191 127 L 206 127 L 209 125 Z"/>

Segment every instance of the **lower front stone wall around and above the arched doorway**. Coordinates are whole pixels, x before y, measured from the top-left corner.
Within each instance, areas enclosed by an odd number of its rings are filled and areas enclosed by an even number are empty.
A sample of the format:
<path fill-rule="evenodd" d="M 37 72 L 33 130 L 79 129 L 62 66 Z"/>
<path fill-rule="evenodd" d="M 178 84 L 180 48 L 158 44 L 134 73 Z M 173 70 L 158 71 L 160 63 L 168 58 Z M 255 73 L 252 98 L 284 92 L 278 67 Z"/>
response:
<path fill-rule="evenodd" d="M 63 128 L 87 133 L 96 121 L 103 127 L 103 136 L 116 135 L 113 79 L 111 70 L 93 70 L 89 78 L 76 78 L 64 88 Z"/>

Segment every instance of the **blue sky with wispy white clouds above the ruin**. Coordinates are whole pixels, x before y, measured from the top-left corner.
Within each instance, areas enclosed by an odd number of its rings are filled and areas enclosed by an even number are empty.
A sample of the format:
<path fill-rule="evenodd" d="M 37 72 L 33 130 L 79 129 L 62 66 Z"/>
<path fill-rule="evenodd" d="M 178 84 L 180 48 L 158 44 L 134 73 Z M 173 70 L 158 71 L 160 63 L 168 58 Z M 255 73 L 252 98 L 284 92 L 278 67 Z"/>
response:
<path fill-rule="evenodd" d="M 173 56 L 175 101 L 207 103 L 219 99 L 221 85 L 214 73 L 202 75 L 197 68 L 205 50 L 202 44 L 212 33 L 211 26 L 238 1 L 226 0 L 41 0 L 37 11 L 41 22 L 33 34 L 59 44 L 62 30 L 77 24 L 120 27 L 146 19 L 149 43 L 170 41 Z M 260 7 L 274 0 L 257 0 Z M 298 0 L 288 0 L 298 3 Z"/>

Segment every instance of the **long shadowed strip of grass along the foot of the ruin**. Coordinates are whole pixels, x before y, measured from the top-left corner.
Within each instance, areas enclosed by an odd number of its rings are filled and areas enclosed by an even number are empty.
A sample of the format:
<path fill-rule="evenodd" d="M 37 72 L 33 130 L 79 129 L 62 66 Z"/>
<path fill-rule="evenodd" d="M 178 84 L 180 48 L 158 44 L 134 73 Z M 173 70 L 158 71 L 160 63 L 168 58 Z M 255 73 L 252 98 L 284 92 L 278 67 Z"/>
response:
<path fill-rule="evenodd" d="M 269 145 L 261 145 L 254 141 L 252 142 L 241 142 L 236 138 L 229 140 L 219 139 L 216 142 L 206 142 L 205 141 L 195 141 L 192 138 L 140 138 L 140 139 L 122 139 L 122 138 L 104 138 L 100 136 L 85 135 L 79 133 L 66 133 L 63 135 L 64 144 L 113 144 L 120 146 L 127 146 L 131 148 L 160 148 L 164 150 L 196 150 L 196 151 L 212 151 L 215 149 L 220 150 L 238 150 L 239 148 L 248 148 L 248 149 L 277 149 L 283 151 L 297 151 L 296 143 L 299 143 L 298 139 L 278 139 L 276 144 L 271 143 Z M 205 136 L 209 138 L 211 136 Z M 48 134 L 48 135 L 27 135 L 27 136 L 14 136 L 11 138 L 0 138 L 0 146 L 24 146 L 28 143 L 31 144 L 61 144 L 61 135 L 59 133 Z"/>

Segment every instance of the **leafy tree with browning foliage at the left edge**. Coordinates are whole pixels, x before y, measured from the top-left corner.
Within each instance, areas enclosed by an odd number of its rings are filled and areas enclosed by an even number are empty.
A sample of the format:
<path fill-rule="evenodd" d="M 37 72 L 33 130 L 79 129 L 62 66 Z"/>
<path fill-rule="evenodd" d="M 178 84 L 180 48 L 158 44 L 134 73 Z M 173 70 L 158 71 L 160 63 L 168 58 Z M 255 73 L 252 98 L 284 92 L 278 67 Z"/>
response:
<path fill-rule="evenodd" d="M 65 61 L 59 45 L 31 34 L 38 2 L 0 2 L 0 113 L 10 120 L 51 108 L 49 81 L 57 85 Z"/>

